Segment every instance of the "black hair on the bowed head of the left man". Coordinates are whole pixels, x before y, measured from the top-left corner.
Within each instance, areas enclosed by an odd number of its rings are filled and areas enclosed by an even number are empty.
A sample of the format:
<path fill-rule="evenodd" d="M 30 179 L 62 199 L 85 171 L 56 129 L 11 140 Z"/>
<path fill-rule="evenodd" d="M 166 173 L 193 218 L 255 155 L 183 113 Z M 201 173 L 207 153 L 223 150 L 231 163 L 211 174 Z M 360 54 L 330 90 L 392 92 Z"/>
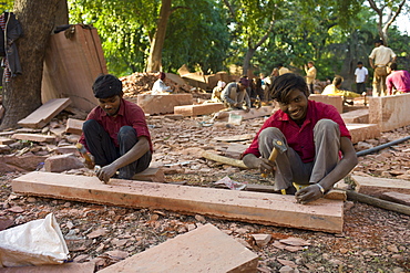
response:
<path fill-rule="evenodd" d="M 121 96 L 123 94 L 122 82 L 111 74 L 99 75 L 94 81 L 92 90 L 96 98 L 107 98 L 115 95 Z"/>

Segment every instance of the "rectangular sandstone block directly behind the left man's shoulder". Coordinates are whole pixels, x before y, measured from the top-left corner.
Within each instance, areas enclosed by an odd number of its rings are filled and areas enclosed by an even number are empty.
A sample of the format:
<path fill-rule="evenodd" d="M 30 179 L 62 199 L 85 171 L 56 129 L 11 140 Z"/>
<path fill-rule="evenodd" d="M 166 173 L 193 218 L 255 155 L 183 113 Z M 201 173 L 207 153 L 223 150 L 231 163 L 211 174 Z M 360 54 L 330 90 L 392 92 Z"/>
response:
<path fill-rule="evenodd" d="M 174 107 L 180 105 L 191 105 L 192 94 L 170 94 L 170 95 L 137 95 L 137 105 L 145 114 L 170 114 L 174 113 Z"/>

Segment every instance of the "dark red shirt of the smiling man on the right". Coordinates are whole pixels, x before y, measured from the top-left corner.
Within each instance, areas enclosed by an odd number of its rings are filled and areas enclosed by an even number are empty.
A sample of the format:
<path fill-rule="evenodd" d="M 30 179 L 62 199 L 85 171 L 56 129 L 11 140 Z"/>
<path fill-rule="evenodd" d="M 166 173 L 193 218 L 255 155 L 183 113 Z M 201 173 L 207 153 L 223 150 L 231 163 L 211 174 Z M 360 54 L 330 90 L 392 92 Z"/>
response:
<path fill-rule="evenodd" d="M 260 157 L 258 137 L 263 129 L 267 127 L 278 128 L 285 136 L 288 146 L 291 147 L 301 158 L 304 162 L 310 162 L 315 159 L 315 143 L 314 128 L 315 125 L 322 118 L 331 119 L 339 125 L 340 137 L 348 137 L 351 139 L 349 130 L 347 129 L 344 119 L 332 105 L 308 101 L 306 119 L 301 127 L 299 127 L 287 114 L 283 111 L 277 111 L 271 115 L 262 126 L 254 141 L 245 150 L 243 156 L 254 154 Z"/>

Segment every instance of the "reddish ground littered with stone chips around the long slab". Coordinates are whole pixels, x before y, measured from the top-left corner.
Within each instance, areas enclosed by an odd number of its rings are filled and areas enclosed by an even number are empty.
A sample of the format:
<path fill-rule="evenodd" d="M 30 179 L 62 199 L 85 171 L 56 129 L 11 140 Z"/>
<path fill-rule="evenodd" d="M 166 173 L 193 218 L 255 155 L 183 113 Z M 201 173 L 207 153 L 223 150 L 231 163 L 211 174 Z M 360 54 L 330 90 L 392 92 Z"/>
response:
<path fill-rule="evenodd" d="M 65 118 L 60 115 L 54 124 L 63 126 Z M 180 120 L 165 116 L 147 117 L 155 149 L 153 167 L 164 169 L 167 182 L 215 187 L 215 181 L 229 176 L 238 182 L 268 185 L 255 170 L 240 170 L 199 156 L 203 150 L 224 155 L 229 144 L 217 141 L 215 137 L 256 134 L 264 120 L 264 117 L 248 119 L 235 126 L 216 122 L 209 126 L 208 116 Z M 366 149 L 407 137 L 409 129 L 408 126 L 383 133 L 380 138 L 359 143 L 355 148 Z M 248 145 L 250 141 L 239 143 Z M 68 143 L 64 136 L 59 141 Z M 16 155 L 23 149 L 25 154 L 50 154 L 50 147 L 32 143 L 14 145 L 6 154 Z M 409 151 L 410 143 L 407 141 L 360 157 L 353 174 L 410 180 Z M 201 224 L 212 223 L 259 255 L 259 272 L 410 272 L 410 217 L 368 204 L 347 201 L 344 232 L 330 234 L 166 210 L 20 196 L 12 192 L 11 180 L 21 174 L 1 174 L 0 228 L 22 224 L 53 212 L 72 259 L 75 262 L 94 261 L 96 271 Z M 252 238 L 254 233 L 271 234 L 273 239 L 259 248 Z M 275 246 L 277 240 L 289 237 L 303 239 L 309 245 L 299 249 Z"/>

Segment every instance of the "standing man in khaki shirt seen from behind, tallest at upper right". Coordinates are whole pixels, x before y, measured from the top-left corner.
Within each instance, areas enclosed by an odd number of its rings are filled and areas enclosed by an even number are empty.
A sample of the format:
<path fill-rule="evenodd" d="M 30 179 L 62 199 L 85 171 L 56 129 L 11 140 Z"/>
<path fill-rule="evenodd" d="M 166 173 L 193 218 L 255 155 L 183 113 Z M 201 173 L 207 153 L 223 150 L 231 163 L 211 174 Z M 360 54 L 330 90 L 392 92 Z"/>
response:
<path fill-rule="evenodd" d="M 375 70 L 373 97 L 386 96 L 387 64 L 396 61 L 396 54 L 383 45 L 382 40 L 377 40 L 375 46 L 369 56 L 370 66 Z"/>

